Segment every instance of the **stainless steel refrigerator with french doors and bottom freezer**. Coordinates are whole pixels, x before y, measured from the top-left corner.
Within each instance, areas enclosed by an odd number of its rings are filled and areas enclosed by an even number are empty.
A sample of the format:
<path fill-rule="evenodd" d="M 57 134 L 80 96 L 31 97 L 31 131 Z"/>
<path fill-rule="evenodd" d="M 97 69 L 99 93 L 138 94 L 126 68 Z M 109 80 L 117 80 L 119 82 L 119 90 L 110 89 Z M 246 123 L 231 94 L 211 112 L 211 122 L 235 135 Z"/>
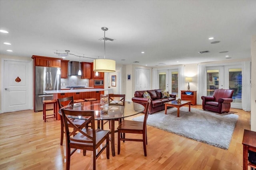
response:
<path fill-rule="evenodd" d="M 43 100 L 52 100 L 53 94 L 45 94 L 44 90 L 60 90 L 60 74 L 56 67 L 36 66 L 35 68 L 35 111 L 43 110 Z M 53 109 L 53 104 L 46 105 Z"/>

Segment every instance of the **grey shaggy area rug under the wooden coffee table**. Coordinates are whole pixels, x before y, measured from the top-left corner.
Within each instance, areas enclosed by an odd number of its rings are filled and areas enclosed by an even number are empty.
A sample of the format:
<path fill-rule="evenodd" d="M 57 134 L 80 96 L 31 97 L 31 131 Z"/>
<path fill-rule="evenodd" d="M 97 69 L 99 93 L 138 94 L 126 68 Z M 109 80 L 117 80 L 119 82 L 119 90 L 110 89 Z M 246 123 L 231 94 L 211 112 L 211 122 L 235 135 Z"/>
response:
<path fill-rule="evenodd" d="M 143 121 L 144 115 L 135 117 L 134 121 Z M 148 115 L 147 124 L 164 131 L 181 135 L 214 147 L 228 149 L 238 115 L 230 113 L 214 113 L 202 109 L 188 107 L 180 108 L 180 117 L 177 117 L 177 108 L 172 107 L 164 111 Z"/>

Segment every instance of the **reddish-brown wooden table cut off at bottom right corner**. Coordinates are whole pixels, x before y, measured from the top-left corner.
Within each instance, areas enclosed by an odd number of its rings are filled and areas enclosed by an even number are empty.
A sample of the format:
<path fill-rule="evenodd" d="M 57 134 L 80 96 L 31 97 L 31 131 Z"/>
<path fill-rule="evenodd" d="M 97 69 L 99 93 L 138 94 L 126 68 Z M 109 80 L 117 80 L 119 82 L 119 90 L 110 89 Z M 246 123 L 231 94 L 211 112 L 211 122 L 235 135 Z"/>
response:
<path fill-rule="evenodd" d="M 248 170 L 248 166 L 256 168 L 256 164 L 248 162 L 248 150 L 256 152 L 256 132 L 244 129 L 243 137 L 243 170 Z"/>

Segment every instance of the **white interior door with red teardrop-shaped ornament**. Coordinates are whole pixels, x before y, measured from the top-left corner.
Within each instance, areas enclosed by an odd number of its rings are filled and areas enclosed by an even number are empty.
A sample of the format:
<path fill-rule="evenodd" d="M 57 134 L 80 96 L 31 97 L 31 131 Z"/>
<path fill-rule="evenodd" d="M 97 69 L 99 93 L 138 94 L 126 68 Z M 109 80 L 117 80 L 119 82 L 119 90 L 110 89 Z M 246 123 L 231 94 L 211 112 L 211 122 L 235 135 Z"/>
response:
<path fill-rule="evenodd" d="M 33 109 L 32 61 L 2 59 L 2 113 Z"/>

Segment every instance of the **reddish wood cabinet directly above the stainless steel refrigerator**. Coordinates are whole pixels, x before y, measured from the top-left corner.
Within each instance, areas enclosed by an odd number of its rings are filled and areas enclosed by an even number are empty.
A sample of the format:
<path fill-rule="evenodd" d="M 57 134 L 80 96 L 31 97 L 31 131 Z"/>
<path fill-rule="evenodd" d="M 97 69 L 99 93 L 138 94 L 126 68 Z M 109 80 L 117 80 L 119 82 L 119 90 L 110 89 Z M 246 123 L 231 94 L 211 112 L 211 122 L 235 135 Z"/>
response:
<path fill-rule="evenodd" d="M 33 55 L 34 66 L 61 67 L 61 59 Z"/>

